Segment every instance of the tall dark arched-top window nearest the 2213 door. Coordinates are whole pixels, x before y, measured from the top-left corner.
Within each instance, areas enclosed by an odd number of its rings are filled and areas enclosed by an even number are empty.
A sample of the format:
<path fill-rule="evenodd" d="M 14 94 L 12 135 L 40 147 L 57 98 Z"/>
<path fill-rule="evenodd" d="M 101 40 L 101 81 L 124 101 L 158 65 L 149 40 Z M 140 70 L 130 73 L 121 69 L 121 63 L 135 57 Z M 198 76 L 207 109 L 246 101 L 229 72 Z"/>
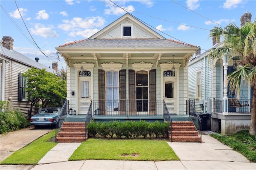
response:
<path fill-rule="evenodd" d="M 148 71 L 136 72 L 136 110 L 148 111 Z"/>

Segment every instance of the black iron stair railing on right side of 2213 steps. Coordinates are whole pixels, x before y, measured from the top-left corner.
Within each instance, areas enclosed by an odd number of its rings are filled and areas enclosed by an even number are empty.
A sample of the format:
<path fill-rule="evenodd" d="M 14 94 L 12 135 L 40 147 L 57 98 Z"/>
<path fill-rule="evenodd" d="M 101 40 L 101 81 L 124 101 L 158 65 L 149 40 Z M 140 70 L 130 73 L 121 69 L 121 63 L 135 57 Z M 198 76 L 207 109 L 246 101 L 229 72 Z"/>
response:
<path fill-rule="evenodd" d="M 196 130 L 200 136 L 200 142 L 202 143 L 202 119 L 200 118 L 200 113 L 196 112 L 194 107 L 195 101 L 194 100 L 187 100 L 187 108 L 188 108 L 188 115 L 190 120 L 193 122 Z"/>

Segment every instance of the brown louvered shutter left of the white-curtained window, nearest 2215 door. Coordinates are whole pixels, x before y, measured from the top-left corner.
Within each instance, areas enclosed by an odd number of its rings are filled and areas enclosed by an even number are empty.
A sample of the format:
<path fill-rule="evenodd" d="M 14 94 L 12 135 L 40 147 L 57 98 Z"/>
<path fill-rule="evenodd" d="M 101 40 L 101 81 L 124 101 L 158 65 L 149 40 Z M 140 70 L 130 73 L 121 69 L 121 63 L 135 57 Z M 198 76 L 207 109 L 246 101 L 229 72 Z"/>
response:
<path fill-rule="evenodd" d="M 100 109 L 100 114 L 105 115 L 105 71 L 99 69 L 98 70 L 98 91 L 99 91 L 99 109 Z"/>

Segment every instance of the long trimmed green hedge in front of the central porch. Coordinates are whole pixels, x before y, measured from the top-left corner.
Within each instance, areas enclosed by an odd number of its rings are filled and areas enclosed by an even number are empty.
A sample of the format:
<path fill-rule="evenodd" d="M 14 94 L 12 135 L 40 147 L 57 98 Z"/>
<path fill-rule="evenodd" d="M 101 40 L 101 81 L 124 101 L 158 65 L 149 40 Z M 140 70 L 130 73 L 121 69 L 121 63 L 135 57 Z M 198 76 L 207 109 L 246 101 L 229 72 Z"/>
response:
<path fill-rule="evenodd" d="M 87 125 L 90 136 L 99 135 L 104 138 L 162 138 L 167 136 L 169 123 L 146 121 L 110 121 L 90 122 Z"/>

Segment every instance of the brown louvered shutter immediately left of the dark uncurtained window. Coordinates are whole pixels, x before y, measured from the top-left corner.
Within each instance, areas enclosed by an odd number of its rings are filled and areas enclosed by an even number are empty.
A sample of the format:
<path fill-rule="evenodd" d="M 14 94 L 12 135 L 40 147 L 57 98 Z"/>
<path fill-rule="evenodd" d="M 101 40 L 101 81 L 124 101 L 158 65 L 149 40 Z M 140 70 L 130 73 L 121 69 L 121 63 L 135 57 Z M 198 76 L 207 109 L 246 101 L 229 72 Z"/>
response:
<path fill-rule="evenodd" d="M 135 115 L 135 71 L 129 70 L 129 113 Z"/>

